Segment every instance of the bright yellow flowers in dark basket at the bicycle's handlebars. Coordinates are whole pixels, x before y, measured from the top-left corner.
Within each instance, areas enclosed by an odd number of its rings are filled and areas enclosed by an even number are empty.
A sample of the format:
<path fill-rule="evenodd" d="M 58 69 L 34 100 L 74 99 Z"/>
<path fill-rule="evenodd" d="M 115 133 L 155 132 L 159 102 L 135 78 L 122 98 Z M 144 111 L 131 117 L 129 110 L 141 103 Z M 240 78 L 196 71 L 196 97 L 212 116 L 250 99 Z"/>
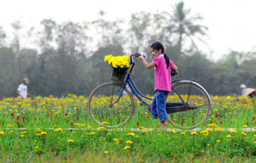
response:
<path fill-rule="evenodd" d="M 129 56 L 112 56 L 112 54 L 105 56 L 104 62 L 112 67 L 112 80 L 122 81 L 125 77 L 126 71 L 129 68 Z"/>

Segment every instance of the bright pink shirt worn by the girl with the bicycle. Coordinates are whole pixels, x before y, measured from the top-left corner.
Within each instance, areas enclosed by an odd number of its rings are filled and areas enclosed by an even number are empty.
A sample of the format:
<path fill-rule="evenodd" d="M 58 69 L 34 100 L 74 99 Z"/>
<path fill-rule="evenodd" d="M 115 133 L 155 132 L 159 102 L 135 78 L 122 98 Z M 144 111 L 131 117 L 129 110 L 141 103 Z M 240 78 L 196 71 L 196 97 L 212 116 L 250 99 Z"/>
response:
<path fill-rule="evenodd" d="M 164 55 L 161 54 L 153 59 L 156 64 L 155 69 L 155 90 L 171 91 L 171 67 L 174 63 L 170 60 L 170 66 L 166 68 Z"/>

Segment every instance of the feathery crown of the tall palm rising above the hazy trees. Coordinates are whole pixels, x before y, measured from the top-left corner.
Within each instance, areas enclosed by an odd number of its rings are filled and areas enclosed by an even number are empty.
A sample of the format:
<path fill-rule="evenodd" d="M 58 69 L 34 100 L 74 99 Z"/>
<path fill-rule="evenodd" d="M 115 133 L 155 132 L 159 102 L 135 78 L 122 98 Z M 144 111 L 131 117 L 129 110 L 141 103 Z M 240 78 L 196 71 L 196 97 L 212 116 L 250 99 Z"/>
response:
<path fill-rule="evenodd" d="M 177 42 L 177 46 L 179 49 L 179 54 L 182 52 L 182 43 L 184 36 L 188 37 L 192 42 L 192 45 L 197 48 L 194 39 L 197 38 L 201 42 L 205 43 L 200 36 L 205 36 L 205 31 L 208 30 L 207 27 L 194 24 L 194 22 L 198 22 L 203 20 L 199 14 L 191 15 L 191 9 L 184 8 L 184 2 L 180 2 L 174 6 L 174 13 L 171 16 L 170 24 L 167 27 L 167 30 L 171 34 L 177 34 L 179 39 Z M 206 44 L 206 43 L 205 43 Z"/>

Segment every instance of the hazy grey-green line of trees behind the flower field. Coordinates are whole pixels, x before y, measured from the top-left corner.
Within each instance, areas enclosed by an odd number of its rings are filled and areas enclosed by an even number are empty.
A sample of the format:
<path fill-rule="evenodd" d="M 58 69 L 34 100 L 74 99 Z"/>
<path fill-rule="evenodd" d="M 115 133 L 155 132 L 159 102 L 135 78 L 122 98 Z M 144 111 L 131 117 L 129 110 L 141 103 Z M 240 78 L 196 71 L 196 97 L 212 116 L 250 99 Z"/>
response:
<path fill-rule="evenodd" d="M 172 80 L 197 79 L 210 94 L 240 94 L 240 84 L 256 88 L 256 53 L 223 54 L 218 61 L 202 53 L 197 43 L 204 42 L 208 28 L 197 24 L 199 14 L 180 2 L 165 12 L 139 12 L 129 22 L 107 21 L 104 11 L 92 22 L 58 24 L 42 20 L 41 29 L 24 31 L 14 22 L 12 40 L 0 26 L 0 98 L 17 96 L 18 85 L 28 77 L 33 95 L 61 96 L 66 92 L 88 96 L 98 84 L 110 81 L 111 68 L 104 56 L 139 52 L 152 61 L 149 47 L 155 41 L 178 66 L 179 75 Z M 163 23 L 164 22 L 164 23 Z M 36 48 L 23 43 L 32 40 Z M 31 44 L 31 43 L 30 43 Z M 189 46 L 185 46 L 189 45 Z M 145 94 L 154 93 L 154 70 L 146 70 L 137 61 L 134 81 Z"/>

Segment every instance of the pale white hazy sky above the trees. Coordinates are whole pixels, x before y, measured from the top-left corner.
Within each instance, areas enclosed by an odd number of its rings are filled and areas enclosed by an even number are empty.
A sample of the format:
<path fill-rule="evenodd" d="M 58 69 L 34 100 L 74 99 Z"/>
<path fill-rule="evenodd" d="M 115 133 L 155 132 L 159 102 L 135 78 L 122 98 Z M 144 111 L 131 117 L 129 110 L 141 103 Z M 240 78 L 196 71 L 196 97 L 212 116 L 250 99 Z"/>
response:
<path fill-rule="evenodd" d="M 132 13 L 169 11 L 176 0 L 0 0 L 0 26 L 8 34 L 11 23 L 20 20 L 26 27 L 39 26 L 43 19 L 83 22 L 98 18 L 106 12 L 107 20 L 116 18 L 129 21 Z M 209 28 L 209 38 L 204 38 L 212 51 L 212 58 L 220 59 L 229 50 L 256 51 L 256 1 L 254 0 L 184 0 L 192 14 L 205 18 L 201 23 Z M 210 50 L 199 44 L 199 49 Z M 254 48 L 254 49 L 253 49 Z"/>

